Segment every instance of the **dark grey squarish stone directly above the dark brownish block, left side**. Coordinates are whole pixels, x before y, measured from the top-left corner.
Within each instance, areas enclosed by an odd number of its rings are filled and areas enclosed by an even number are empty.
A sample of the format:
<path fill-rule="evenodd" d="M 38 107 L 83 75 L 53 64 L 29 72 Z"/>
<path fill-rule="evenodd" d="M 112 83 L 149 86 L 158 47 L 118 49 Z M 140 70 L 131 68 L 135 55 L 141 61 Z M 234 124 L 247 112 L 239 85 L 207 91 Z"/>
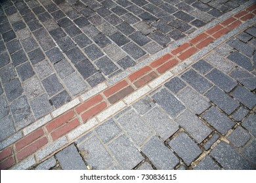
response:
<path fill-rule="evenodd" d="M 60 84 L 60 81 L 55 74 L 45 78 L 42 83 L 49 96 L 52 96 L 63 89 L 62 84 Z"/>

